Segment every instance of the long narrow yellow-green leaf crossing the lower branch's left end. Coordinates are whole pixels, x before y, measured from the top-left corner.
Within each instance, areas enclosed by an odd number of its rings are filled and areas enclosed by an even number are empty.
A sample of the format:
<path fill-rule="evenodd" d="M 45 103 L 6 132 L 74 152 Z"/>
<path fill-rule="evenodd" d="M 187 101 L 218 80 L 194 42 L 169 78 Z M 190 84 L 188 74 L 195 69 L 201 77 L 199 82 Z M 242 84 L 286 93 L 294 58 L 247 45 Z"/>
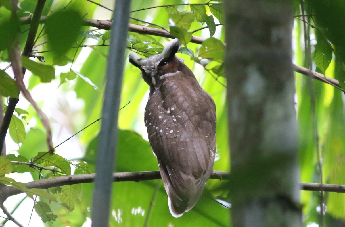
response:
<path fill-rule="evenodd" d="M 39 188 L 27 188 L 25 184 L 16 182 L 12 178 L 0 177 L 0 183 L 11 186 L 13 188 L 20 189 L 30 197 L 32 197 L 32 195 L 36 195 L 36 196 L 41 196 L 43 198 L 49 199 L 50 201 L 57 202 L 56 198 L 53 195 L 49 194 L 46 190 L 39 189 Z"/>

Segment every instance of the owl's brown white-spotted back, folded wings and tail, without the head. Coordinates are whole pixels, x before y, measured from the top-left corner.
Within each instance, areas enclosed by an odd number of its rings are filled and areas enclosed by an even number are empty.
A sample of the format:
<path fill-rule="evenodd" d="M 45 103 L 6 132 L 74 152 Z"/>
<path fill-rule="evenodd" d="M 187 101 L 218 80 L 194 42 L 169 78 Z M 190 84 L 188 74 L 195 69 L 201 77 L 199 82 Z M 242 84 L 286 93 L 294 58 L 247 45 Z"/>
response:
<path fill-rule="evenodd" d="M 169 84 L 166 84 L 166 86 Z M 170 84 L 170 92 L 156 89 L 150 96 L 145 124 L 152 151 L 174 216 L 191 209 L 209 178 L 216 148 L 216 111 L 201 88 L 197 95 Z"/>

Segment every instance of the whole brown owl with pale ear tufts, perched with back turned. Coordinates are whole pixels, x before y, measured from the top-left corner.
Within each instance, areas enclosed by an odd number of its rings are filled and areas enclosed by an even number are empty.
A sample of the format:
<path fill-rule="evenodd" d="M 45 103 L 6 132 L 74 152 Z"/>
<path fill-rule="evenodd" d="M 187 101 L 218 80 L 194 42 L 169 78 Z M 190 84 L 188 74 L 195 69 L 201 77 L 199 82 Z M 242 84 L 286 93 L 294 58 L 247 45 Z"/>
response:
<path fill-rule="evenodd" d="M 129 54 L 150 86 L 145 125 L 174 217 L 198 202 L 216 153 L 216 105 L 175 56 L 180 47 L 174 39 L 149 58 Z"/>

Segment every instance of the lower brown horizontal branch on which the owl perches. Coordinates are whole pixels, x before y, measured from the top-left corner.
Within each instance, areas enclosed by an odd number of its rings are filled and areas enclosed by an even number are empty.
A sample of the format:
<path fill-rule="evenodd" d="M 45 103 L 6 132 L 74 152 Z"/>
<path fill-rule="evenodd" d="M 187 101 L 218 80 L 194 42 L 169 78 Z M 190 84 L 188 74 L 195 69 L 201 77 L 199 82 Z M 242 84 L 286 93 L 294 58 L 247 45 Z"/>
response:
<path fill-rule="evenodd" d="M 48 179 L 40 179 L 32 182 L 25 183 L 28 188 L 48 189 L 51 187 L 58 187 L 63 185 L 91 183 L 94 181 L 96 174 L 80 174 L 61 176 Z M 225 179 L 228 180 L 230 173 L 213 171 L 210 179 Z M 146 171 L 146 172 L 127 172 L 127 173 L 113 173 L 114 182 L 133 181 L 139 182 L 143 180 L 161 179 L 159 171 Z M 345 185 L 335 184 L 318 184 L 318 183 L 300 183 L 301 190 L 308 191 L 323 191 L 323 192 L 337 192 L 345 193 Z M 10 186 L 0 187 L 0 202 L 4 202 L 8 197 L 22 193 L 20 189 Z"/>

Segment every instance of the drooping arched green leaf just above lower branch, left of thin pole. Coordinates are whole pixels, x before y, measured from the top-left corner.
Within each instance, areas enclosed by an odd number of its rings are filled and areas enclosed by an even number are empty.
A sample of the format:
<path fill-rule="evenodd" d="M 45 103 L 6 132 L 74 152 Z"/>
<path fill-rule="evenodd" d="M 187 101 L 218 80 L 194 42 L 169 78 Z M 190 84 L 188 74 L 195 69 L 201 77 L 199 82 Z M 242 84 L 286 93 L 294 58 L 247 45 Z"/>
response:
<path fill-rule="evenodd" d="M 39 152 L 36 157 L 32 158 L 35 160 L 36 158 L 41 157 L 46 152 Z M 35 163 L 43 164 L 43 166 L 54 166 L 60 169 L 60 171 L 66 175 L 71 175 L 71 166 L 70 163 L 66 160 L 66 158 L 61 157 L 55 153 L 53 154 L 46 154 L 40 159 L 36 160 Z"/>

